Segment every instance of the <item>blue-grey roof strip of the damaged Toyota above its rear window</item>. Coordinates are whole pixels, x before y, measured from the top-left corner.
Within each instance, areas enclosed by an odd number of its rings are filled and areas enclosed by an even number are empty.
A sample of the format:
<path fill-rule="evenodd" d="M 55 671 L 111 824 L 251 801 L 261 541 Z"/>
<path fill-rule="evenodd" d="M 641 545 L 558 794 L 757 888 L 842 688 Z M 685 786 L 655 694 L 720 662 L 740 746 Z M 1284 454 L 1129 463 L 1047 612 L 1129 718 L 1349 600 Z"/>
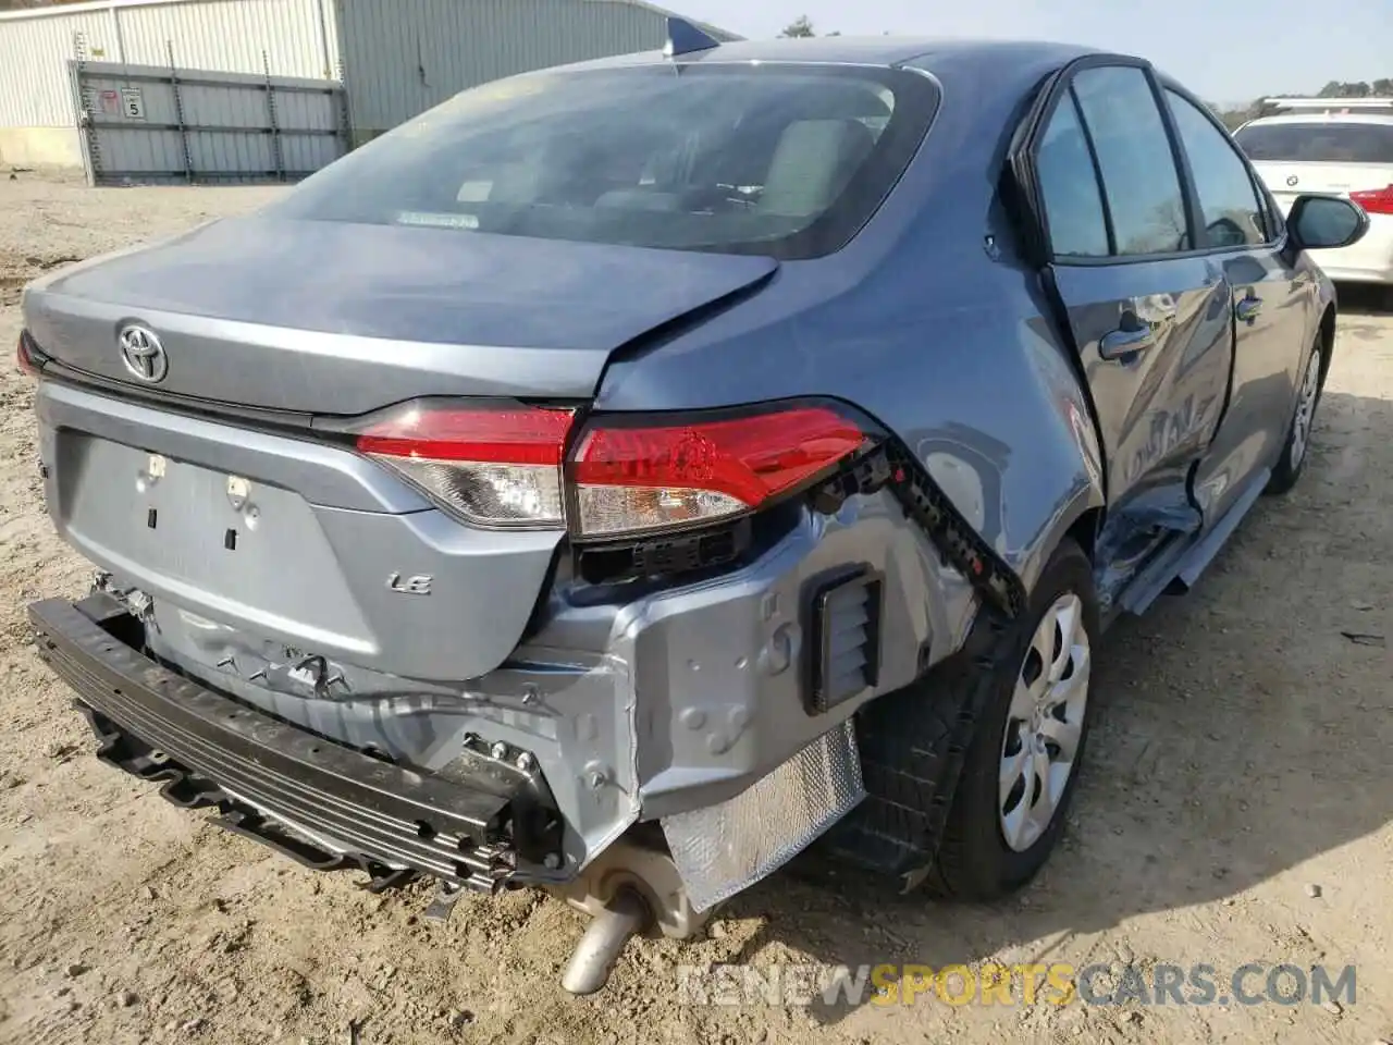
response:
<path fill-rule="evenodd" d="M 1091 47 L 1045 40 L 943 39 L 933 36 L 812 36 L 775 40 L 733 40 L 680 56 L 681 63 L 812 63 L 829 65 L 903 65 L 937 72 L 937 67 L 971 65 L 976 71 L 1064 65 Z M 605 68 L 673 61 L 662 52 L 620 54 L 567 65 L 567 70 Z"/>

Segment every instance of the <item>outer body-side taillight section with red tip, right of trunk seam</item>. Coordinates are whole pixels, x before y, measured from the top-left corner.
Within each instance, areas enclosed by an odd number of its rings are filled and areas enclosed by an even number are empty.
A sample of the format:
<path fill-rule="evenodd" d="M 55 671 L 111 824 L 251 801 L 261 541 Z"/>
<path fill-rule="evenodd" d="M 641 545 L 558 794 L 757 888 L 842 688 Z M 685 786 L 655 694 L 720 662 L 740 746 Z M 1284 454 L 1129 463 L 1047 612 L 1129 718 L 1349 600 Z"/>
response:
<path fill-rule="evenodd" d="M 570 475 L 579 536 L 616 536 L 738 516 L 855 453 L 865 435 L 826 407 L 687 424 L 599 418 Z"/>

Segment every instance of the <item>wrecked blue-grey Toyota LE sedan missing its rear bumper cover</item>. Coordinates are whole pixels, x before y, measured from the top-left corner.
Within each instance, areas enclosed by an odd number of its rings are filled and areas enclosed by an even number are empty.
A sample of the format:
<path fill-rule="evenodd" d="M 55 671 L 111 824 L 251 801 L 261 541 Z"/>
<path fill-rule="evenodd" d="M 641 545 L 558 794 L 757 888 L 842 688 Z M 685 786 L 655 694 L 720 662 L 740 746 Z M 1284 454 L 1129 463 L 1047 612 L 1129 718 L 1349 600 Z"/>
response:
<path fill-rule="evenodd" d="M 674 75 L 676 74 L 676 75 Z M 99 755 L 373 888 L 538 886 L 598 989 L 809 847 L 1039 869 L 1103 628 L 1305 465 L 1336 301 L 1194 95 L 1039 43 L 468 91 L 31 284 L 31 607 Z"/>

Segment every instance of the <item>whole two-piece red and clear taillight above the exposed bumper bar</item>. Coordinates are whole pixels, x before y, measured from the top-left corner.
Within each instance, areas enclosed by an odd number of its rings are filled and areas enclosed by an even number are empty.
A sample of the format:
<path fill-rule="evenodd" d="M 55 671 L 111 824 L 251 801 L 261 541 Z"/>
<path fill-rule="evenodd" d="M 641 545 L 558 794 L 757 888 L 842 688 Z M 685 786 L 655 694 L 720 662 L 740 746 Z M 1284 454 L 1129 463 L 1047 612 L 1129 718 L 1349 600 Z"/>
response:
<path fill-rule="evenodd" d="M 744 516 L 809 486 L 865 443 L 826 405 L 740 414 L 593 415 L 567 461 L 573 410 L 421 400 L 357 429 L 357 449 L 488 527 L 606 539 Z"/>

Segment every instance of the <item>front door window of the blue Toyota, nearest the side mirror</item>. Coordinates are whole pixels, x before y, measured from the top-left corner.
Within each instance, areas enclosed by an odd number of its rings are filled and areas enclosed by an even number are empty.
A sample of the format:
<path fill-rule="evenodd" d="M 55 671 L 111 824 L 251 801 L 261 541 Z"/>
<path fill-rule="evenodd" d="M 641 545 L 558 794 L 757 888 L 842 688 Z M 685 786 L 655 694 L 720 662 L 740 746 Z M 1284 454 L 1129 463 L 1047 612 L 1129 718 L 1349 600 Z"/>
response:
<path fill-rule="evenodd" d="M 1176 131 L 1190 159 L 1209 245 L 1265 242 L 1262 205 L 1243 159 L 1192 102 L 1166 91 L 1166 103 L 1176 117 Z"/>

